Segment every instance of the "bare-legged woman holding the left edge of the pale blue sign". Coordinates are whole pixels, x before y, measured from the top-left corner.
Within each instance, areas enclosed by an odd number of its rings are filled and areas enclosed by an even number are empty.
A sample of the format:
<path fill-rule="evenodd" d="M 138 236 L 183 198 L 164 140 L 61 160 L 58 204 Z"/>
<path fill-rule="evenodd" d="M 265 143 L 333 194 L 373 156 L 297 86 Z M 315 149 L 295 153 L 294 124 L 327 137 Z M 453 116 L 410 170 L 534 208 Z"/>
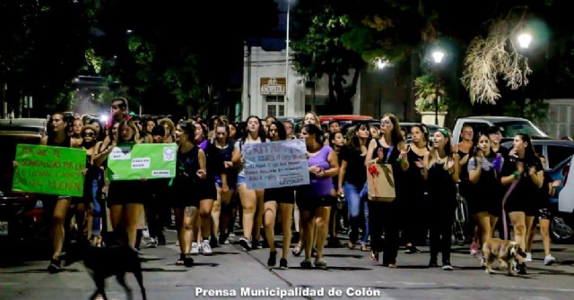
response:
<path fill-rule="evenodd" d="M 247 179 L 243 171 L 243 163 L 245 160 L 241 155 L 241 149 L 244 144 L 265 142 L 267 139 L 265 138 L 265 130 L 258 116 L 249 116 L 246 123 L 247 128 L 245 133 L 243 133 L 241 139 L 235 143 L 231 161 L 239 167 L 237 188 L 241 206 L 243 207 L 243 237 L 239 238 L 239 244 L 241 244 L 246 251 L 250 251 L 254 246 L 257 247 L 259 244 L 259 234 L 263 219 L 263 190 L 248 189 L 246 185 Z M 253 234 L 253 243 L 255 243 L 255 245 L 251 244 L 251 234 Z"/>

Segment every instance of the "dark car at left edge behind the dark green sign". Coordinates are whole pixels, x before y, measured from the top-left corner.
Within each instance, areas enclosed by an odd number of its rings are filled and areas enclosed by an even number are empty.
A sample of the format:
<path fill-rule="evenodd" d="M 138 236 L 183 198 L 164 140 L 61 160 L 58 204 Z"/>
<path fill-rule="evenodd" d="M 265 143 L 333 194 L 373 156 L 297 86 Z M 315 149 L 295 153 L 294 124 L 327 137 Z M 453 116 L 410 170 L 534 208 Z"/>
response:
<path fill-rule="evenodd" d="M 16 145 L 39 144 L 46 123 L 36 118 L 0 120 L 0 240 L 35 242 L 47 237 L 39 195 L 12 190 Z"/>

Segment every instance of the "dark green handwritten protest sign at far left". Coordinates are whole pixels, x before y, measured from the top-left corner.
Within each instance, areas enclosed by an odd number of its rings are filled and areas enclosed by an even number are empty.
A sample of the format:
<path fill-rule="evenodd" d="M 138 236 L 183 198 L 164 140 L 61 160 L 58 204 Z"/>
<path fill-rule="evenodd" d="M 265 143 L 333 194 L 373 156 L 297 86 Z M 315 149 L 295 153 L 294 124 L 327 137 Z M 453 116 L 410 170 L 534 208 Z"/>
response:
<path fill-rule="evenodd" d="M 16 162 L 14 191 L 83 196 L 86 150 L 18 144 Z"/>

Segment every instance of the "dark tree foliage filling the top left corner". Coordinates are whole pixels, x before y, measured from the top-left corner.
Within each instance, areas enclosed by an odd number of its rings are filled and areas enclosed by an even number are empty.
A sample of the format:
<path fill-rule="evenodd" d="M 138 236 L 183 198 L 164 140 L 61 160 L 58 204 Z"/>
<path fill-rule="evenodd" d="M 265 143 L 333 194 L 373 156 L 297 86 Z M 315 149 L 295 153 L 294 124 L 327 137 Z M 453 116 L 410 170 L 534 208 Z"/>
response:
<path fill-rule="evenodd" d="M 9 86 L 10 106 L 31 95 L 40 116 L 67 108 L 65 90 L 85 64 L 92 7 L 91 0 L 0 4 L 0 84 Z"/>

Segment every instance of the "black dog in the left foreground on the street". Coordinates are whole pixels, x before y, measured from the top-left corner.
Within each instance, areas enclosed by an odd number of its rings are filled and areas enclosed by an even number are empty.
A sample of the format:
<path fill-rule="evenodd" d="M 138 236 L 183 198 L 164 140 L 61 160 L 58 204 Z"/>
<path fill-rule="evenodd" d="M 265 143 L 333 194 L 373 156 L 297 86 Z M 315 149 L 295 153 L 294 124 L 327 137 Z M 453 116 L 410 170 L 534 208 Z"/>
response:
<path fill-rule="evenodd" d="M 99 294 L 108 300 L 105 291 L 105 280 L 116 276 L 117 282 L 126 289 L 127 299 L 133 299 L 131 288 L 126 285 L 126 273 L 134 273 L 135 279 L 142 291 L 143 300 L 147 299 L 143 287 L 142 263 L 134 249 L 128 245 L 113 245 L 97 247 L 88 245 L 83 264 L 91 270 L 91 278 L 96 284 L 96 291 L 90 297 L 95 299 Z"/>

